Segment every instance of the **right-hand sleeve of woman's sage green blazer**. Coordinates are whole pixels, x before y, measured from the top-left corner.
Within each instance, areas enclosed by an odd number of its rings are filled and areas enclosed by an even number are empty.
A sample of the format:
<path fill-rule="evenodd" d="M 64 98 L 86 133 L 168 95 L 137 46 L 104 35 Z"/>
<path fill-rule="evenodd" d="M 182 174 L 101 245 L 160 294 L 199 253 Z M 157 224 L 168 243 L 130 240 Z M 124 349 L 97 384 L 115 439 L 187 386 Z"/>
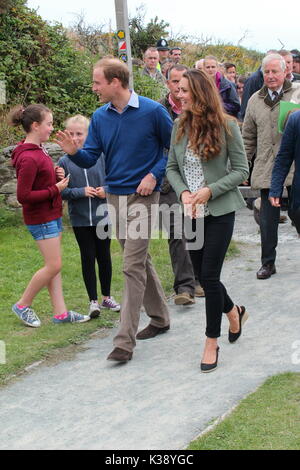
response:
<path fill-rule="evenodd" d="M 212 192 L 211 199 L 216 199 L 221 194 L 235 189 L 249 175 L 249 166 L 239 127 L 236 121 L 230 121 L 229 127 L 230 133 L 226 132 L 226 151 L 230 169 L 225 176 L 208 185 Z"/>

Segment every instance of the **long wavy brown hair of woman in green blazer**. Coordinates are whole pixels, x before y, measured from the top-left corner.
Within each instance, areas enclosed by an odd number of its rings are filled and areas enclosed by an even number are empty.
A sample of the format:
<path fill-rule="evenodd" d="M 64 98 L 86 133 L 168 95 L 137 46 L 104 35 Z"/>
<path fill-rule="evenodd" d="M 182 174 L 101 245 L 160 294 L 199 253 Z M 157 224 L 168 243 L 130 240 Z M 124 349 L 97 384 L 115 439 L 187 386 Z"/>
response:
<path fill-rule="evenodd" d="M 176 142 L 187 131 L 190 148 L 204 160 L 211 160 L 221 151 L 230 117 L 225 114 L 218 89 L 206 72 L 190 69 L 183 77 L 189 82 L 192 106 L 180 115 Z"/>

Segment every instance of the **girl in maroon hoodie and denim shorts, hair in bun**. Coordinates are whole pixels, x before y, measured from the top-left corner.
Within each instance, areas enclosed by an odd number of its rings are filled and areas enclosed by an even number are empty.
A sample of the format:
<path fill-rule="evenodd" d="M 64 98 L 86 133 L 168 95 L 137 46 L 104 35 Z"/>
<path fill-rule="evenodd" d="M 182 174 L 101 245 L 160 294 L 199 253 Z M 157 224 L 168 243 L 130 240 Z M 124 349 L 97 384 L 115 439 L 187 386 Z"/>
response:
<path fill-rule="evenodd" d="M 60 179 L 53 162 L 42 146 L 53 131 L 51 111 L 42 104 L 17 106 L 9 115 L 10 124 L 22 125 L 26 138 L 13 151 L 12 162 L 17 173 L 17 198 L 23 207 L 25 224 L 43 256 L 44 266 L 32 277 L 12 311 L 28 326 L 41 322 L 31 308 L 35 296 L 47 287 L 53 307 L 54 323 L 90 320 L 87 315 L 67 311 L 61 282 L 61 191 L 68 177 Z M 60 179 L 60 181 L 58 181 Z"/>

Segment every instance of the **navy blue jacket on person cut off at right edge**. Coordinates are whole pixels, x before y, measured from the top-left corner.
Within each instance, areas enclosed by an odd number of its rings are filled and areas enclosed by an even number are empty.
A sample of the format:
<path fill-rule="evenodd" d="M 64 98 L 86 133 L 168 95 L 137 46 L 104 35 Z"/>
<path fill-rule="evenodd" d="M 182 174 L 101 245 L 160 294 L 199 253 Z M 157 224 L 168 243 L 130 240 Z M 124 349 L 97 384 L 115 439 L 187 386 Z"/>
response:
<path fill-rule="evenodd" d="M 300 207 L 300 111 L 292 113 L 286 124 L 279 152 L 276 156 L 269 196 L 281 197 L 287 174 L 295 162 L 295 172 L 290 194 L 290 209 Z"/>

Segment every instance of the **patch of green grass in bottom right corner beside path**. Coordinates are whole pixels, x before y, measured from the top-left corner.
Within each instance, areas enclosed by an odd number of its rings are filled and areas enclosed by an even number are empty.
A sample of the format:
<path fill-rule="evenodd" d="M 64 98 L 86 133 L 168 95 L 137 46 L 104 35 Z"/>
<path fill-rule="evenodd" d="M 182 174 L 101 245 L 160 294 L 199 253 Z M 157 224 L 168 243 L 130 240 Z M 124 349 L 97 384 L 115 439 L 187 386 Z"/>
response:
<path fill-rule="evenodd" d="M 300 374 L 271 377 L 190 450 L 299 450 Z"/>

